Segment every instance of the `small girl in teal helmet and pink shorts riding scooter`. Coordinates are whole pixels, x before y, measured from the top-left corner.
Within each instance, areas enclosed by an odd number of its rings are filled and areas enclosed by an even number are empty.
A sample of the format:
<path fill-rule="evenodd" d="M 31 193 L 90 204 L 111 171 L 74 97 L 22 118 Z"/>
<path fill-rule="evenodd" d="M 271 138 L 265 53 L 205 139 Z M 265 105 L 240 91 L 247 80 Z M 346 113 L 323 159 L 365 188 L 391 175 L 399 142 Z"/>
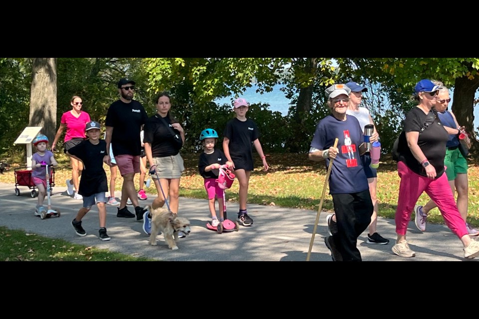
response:
<path fill-rule="evenodd" d="M 204 152 L 200 156 L 198 162 L 198 169 L 200 175 L 205 179 L 205 189 L 208 194 L 210 212 L 212 216 L 212 226 L 217 227 L 220 221 L 225 220 L 223 192 L 224 190 L 218 186 L 218 177 L 220 174 L 220 166 L 228 164 L 230 167 L 232 162 L 228 161 L 225 154 L 218 149 L 215 149 L 215 144 L 218 139 L 218 133 L 213 129 L 205 129 L 200 134 L 200 141 L 202 141 Z M 216 215 L 215 199 L 218 199 L 220 208 L 220 220 Z"/>

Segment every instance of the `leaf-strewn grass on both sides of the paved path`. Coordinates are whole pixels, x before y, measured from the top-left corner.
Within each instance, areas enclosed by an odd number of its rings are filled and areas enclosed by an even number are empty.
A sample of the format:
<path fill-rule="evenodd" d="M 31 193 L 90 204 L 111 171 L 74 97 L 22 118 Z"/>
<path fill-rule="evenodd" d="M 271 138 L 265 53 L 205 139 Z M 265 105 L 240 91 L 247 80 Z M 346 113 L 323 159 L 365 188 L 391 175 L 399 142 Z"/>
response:
<path fill-rule="evenodd" d="M 203 178 L 198 174 L 198 154 L 183 154 L 185 160 L 185 171 L 181 178 L 180 196 L 205 199 L 206 192 L 203 185 Z M 254 204 L 282 206 L 300 209 L 317 210 L 321 200 L 322 188 L 325 181 L 326 169 L 324 162 L 313 162 L 308 160 L 306 154 L 270 154 L 267 161 L 270 169 L 267 172 L 262 170 L 261 162 L 255 154 L 255 167 L 249 182 L 248 202 Z M 64 186 L 64 181 L 71 178 L 71 170 L 68 158 L 64 154 L 57 155 L 59 166 L 55 170 L 55 182 Z M 14 183 L 14 167 L 0 175 L 0 182 Z M 476 227 L 479 226 L 479 167 L 478 162 L 471 159 L 469 162 L 469 213 L 468 222 Z M 110 170 L 105 165 L 108 178 Z M 118 174 L 119 176 L 119 174 Z M 123 179 L 119 176 L 116 180 L 115 190 L 121 190 Z M 383 156 L 378 169 L 378 202 L 379 216 L 394 218 L 397 207 L 397 196 L 399 192 L 400 179 L 397 174 L 396 162 L 388 156 Z M 139 175 L 135 177 L 135 184 L 139 184 Z M 227 190 L 226 196 L 229 201 L 238 201 L 238 182 Z M 145 189 L 148 194 L 156 195 L 156 189 L 151 186 Z M 13 193 L 13 188 L 12 188 Z M 429 200 L 427 194 L 423 193 L 419 203 L 425 204 Z M 181 200 L 180 200 L 181 205 Z M 333 209 L 332 198 L 326 191 L 323 210 Z M 412 219 L 414 215 L 412 215 Z M 435 208 L 430 212 L 428 222 L 442 224 L 444 219 L 439 210 Z M 21 232 L 7 231 L 0 228 L 1 232 L 8 232 L 14 241 L 8 245 L 2 245 L 0 260 L 5 260 L 4 247 L 13 247 L 7 256 L 20 256 L 23 260 L 29 258 L 41 258 L 41 260 L 140 260 L 138 258 L 100 252 L 92 247 L 81 247 L 58 240 L 48 240 L 36 235 L 21 237 Z M 24 232 L 23 232 L 24 234 Z M 1 235 L 1 237 L 5 237 Z M 60 243 L 61 242 L 61 243 Z M 21 243 L 21 244 L 18 244 Z M 25 246 L 26 245 L 26 246 Z M 21 246 L 21 247 L 20 247 Z M 26 247 L 29 246 L 32 252 Z M 53 247 L 54 246 L 54 247 Z M 25 248 L 23 248 L 25 247 Z M 17 251 L 15 251 L 17 249 Z M 45 253 L 39 253 L 43 249 Z M 13 255 L 12 255 L 13 253 Z M 98 254 L 98 256 L 97 256 Z M 10 257 L 11 258 L 11 257 Z M 19 257 L 15 257 L 20 259 Z M 90 259 L 88 259 L 90 258 Z M 40 260 L 40 259 L 34 259 Z"/>

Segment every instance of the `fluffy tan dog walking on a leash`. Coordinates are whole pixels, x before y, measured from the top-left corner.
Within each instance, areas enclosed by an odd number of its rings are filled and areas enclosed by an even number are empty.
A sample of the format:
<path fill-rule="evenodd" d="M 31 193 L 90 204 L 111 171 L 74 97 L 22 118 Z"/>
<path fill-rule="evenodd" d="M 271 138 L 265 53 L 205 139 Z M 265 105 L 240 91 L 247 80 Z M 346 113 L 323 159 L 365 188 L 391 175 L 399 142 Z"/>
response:
<path fill-rule="evenodd" d="M 151 214 L 150 245 L 157 245 L 156 236 L 161 231 L 168 247 L 172 250 L 178 249 L 178 231 L 181 230 L 188 235 L 191 231 L 190 221 L 163 207 L 152 209 L 151 206 L 148 206 L 146 208 Z"/>

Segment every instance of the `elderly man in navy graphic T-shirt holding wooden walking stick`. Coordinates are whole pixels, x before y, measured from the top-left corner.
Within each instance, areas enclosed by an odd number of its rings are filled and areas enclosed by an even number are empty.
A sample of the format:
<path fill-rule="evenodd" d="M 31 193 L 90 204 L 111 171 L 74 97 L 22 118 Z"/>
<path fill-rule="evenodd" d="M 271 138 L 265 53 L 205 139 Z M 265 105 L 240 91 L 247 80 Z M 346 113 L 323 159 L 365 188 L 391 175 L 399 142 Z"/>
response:
<path fill-rule="evenodd" d="M 373 213 L 368 179 L 360 160 L 367 146 L 358 120 L 346 115 L 350 92 L 344 84 L 326 89 L 331 114 L 319 121 L 309 151 L 310 160 L 326 160 L 326 166 L 333 160 L 329 193 L 338 231 L 324 240 L 333 261 L 361 261 L 357 239 L 369 226 Z M 334 148 L 336 139 L 338 145 Z"/>

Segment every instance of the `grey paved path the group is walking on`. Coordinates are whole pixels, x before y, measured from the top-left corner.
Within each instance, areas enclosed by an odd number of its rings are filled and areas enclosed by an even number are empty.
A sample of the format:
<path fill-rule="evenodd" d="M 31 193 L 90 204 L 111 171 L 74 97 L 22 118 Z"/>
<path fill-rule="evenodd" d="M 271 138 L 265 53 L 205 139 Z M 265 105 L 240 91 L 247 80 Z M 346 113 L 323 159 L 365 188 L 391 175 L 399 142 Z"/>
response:
<path fill-rule="evenodd" d="M 180 214 L 189 218 L 192 233 L 180 239 L 179 250 L 171 251 L 163 236 L 158 236 L 158 246 L 148 245 L 148 235 L 142 222 L 136 218 L 117 218 L 116 207 L 107 206 L 107 229 L 111 241 L 98 239 L 98 213 L 96 207 L 83 218 L 87 236 L 79 237 L 71 227 L 71 220 L 81 207 L 81 201 L 66 194 L 66 186 L 55 186 L 51 196 L 52 206 L 61 211 L 60 218 L 41 220 L 33 215 L 36 198 L 31 198 L 28 187 L 19 186 L 20 196 L 15 196 L 14 185 L 0 183 L 0 225 L 10 229 L 23 229 L 46 237 L 61 238 L 72 243 L 96 246 L 132 256 L 145 256 L 165 261 L 305 261 L 309 250 L 313 224 L 317 211 L 248 205 L 253 218 L 252 227 L 240 226 L 240 231 L 217 234 L 205 225 L 210 221 L 208 201 L 180 198 Z M 116 193 L 117 196 L 120 192 Z M 150 204 L 153 196 L 141 205 Z M 45 203 L 46 203 L 45 198 Z M 130 210 L 134 212 L 133 207 Z M 236 217 L 238 203 L 228 203 L 229 217 Z M 460 240 L 445 225 L 429 225 L 427 232 L 409 224 L 408 241 L 416 251 L 415 258 L 402 258 L 391 252 L 396 238 L 394 220 L 380 218 L 378 231 L 389 238 L 388 245 L 366 243 L 367 233 L 359 237 L 358 246 L 364 261 L 464 261 Z M 331 261 L 324 245 L 327 235 L 326 214 L 321 213 L 310 261 Z"/>

